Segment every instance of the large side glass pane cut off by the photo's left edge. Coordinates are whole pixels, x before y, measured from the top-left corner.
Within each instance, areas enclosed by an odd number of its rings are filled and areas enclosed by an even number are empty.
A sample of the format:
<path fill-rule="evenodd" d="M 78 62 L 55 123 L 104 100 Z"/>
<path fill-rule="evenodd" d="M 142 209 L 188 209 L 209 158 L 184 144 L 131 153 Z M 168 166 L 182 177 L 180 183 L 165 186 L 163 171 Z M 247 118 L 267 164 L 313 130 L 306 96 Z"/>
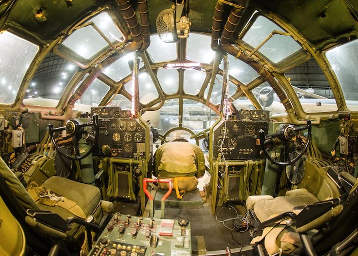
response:
<path fill-rule="evenodd" d="M 38 46 L 7 31 L 0 33 L 0 104 L 15 101 Z"/>

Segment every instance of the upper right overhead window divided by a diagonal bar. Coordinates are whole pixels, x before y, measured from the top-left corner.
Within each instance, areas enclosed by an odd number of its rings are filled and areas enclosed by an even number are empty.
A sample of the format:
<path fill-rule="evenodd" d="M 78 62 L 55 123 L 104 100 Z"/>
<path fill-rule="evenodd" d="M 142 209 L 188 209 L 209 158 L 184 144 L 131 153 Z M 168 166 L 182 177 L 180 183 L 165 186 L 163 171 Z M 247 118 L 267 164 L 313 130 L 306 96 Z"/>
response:
<path fill-rule="evenodd" d="M 246 32 L 243 41 L 256 48 L 272 31 L 286 32 L 283 28 L 259 16 Z M 278 63 L 301 49 L 301 45 L 290 36 L 274 35 L 258 50 L 273 63 Z"/>

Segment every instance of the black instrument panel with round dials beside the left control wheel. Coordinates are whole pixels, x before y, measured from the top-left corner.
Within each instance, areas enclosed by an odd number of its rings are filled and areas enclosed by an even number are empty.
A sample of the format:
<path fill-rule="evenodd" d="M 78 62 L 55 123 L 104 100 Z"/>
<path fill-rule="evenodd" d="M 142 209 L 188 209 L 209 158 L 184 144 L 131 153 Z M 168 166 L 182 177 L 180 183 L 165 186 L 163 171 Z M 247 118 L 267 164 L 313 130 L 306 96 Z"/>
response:
<path fill-rule="evenodd" d="M 94 155 L 132 158 L 145 152 L 146 127 L 129 111 L 119 107 L 95 107 L 92 114 L 99 116 L 99 137 Z M 126 118 L 124 118 L 126 117 Z"/>

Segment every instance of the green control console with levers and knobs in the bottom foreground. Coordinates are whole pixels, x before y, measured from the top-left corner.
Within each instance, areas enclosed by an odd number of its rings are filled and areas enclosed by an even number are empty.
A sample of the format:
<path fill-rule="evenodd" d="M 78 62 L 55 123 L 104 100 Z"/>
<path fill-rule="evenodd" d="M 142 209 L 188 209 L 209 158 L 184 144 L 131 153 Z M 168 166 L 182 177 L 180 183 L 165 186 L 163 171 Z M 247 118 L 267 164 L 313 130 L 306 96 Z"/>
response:
<path fill-rule="evenodd" d="M 186 220 L 154 219 L 116 213 L 90 256 L 191 256 L 191 226 Z"/>

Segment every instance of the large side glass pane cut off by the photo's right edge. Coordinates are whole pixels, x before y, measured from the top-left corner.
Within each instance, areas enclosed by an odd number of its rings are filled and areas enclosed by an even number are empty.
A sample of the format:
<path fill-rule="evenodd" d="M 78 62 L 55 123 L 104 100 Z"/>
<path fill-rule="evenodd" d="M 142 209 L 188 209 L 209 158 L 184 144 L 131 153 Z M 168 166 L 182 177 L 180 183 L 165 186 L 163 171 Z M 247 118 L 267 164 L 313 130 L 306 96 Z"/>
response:
<path fill-rule="evenodd" d="M 326 52 L 326 58 L 339 81 L 347 107 L 358 111 L 358 40 Z"/>

